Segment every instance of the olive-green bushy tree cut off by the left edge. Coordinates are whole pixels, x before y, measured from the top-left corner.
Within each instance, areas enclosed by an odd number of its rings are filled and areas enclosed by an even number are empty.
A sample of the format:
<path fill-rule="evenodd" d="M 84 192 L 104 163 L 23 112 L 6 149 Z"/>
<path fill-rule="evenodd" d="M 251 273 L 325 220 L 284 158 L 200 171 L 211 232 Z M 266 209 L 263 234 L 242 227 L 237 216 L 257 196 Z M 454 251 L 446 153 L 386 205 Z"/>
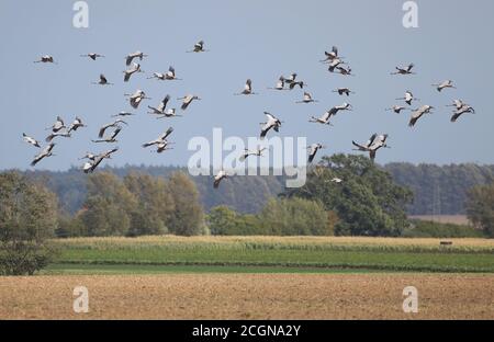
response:
<path fill-rule="evenodd" d="M 0 274 L 33 274 L 54 256 L 57 198 L 15 172 L 0 174 Z"/>

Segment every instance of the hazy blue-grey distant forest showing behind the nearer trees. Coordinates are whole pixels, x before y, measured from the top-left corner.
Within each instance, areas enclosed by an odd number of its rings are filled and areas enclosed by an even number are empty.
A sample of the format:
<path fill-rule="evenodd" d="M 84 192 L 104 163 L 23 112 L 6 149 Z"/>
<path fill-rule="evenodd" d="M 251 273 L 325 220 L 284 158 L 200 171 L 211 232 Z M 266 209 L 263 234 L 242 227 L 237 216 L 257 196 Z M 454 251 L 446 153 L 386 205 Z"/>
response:
<path fill-rule="evenodd" d="M 408 186 L 414 193 L 414 203 L 408 207 L 411 215 L 461 215 L 464 214 L 465 192 L 474 185 L 494 181 L 494 166 L 478 164 L 411 164 L 390 163 L 383 167 L 400 185 Z M 131 171 L 167 178 L 178 167 L 103 168 L 119 176 Z M 86 200 L 87 175 L 78 169 L 63 172 L 26 171 L 26 175 L 45 182 L 55 192 L 60 207 L 68 214 L 78 212 Z M 195 182 L 204 209 L 227 205 L 239 213 L 258 213 L 268 200 L 284 189 L 283 176 L 233 176 L 222 182 L 218 190 L 212 187 L 212 176 L 192 178 Z"/>

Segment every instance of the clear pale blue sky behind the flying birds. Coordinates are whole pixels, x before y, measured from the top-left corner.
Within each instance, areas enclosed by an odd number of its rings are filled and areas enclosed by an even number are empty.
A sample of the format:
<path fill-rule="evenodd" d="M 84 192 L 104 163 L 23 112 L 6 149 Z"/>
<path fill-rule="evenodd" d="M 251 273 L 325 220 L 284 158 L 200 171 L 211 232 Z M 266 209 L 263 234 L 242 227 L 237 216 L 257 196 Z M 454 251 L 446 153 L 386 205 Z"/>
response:
<path fill-rule="evenodd" d="M 57 115 L 66 122 L 76 115 L 88 128 L 69 140 L 59 140 L 56 157 L 37 169 L 65 170 L 96 146 L 100 125 L 110 115 L 130 110 L 123 93 L 143 89 L 151 101 L 130 118 L 121 135 L 121 152 L 113 166 L 186 164 L 192 136 L 210 137 L 213 127 L 224 135 L 256 136 L 263 111 L 285 123 L 281 136 L 306 136 L 323 142 L 326 153 L 351 152 L 351 140 L 366 140 L 372 133 L 389 133 L 392 149 L 378 161 L 493 163 L 494 116 L 492 110 L 494 2 L 419 0 L 419 29 L 402 25 L 404 1 L 87 1 L 89 29 L 72 27 L 75 1 L 0 1 L 2 65 L 0 93 L 0 169 L 29 169 L 36 149 L 22 141 L 22 133 L 43 140 L 45 127 Z M 204 39 L 207 54 L 186 54 Z M 327 72 L 318 60 L 332 45 L 340 48 L 356 77 Z M 123 83 L 124 56 L 141 49 L 149 57 L 147 72 L 166 71 L 172 65 L 183 81 L 159 82 L 137 75 Z M 80 54 L 97 52 L 106 58 L 92 61 Z M 49 54 L 58 65 L 33 64 Z M 417 76 L 391 77 L 397 65 L 414 62 Z M 280 75 L 296 71 L 319 103 L 295 104 L 302 91 L 272 92 Z M 91 86 L 103 72 L 114 87 Z M 258 96 L 234 96 L 247 78 Z M 431 83 L 454 80 L 458 90 L 438 93 Z M 335 127 L 307 122 L 333 105 L 341 104 L 330 90 L 350 87 L 357 94 L 349 102 L 355 111 L 338 114 Z M 438 107 L 415 129 L 407 127 L 409 113 L 383 110 L 411 89 L 420 103 Z M 203 101 L 193 103 L 184 117 L 156 121 L 146 105 L 156 105 L 167 93 L 188 92 Z M 449 122 L 451 100 L 461 98 L 478 114 Z M 172 103 L 179 106 L 178 103 Z M 176 149 L 162 155 L 141 144 L 175 127 Z"/>

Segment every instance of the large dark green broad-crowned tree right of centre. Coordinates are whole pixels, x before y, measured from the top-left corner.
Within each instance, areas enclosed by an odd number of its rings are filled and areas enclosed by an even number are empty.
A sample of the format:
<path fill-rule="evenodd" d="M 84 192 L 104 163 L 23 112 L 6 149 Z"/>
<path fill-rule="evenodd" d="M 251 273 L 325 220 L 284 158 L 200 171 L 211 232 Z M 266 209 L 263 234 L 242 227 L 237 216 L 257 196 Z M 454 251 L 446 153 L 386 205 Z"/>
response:
<path fill-rule="evenodd" d="M 333 182 L 334 178 L 343 180 Z M 393 182 L 391 175 L 363 156 L 324 157 L 301 189 L 284 196 L 321 202 L 335 212 L 339 236 L 400 236 L 408 226 L 406 205 L 412 192 Z"/>

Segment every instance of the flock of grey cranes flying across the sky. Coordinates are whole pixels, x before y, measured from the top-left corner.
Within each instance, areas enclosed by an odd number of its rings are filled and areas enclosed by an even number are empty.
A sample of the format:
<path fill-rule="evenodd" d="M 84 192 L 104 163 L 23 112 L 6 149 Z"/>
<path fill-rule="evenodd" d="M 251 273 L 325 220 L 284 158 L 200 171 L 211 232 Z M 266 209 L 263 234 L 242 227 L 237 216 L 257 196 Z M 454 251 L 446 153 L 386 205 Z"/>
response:
<path fill-rule="evenodd" d="M 204 42 L 200 41 L 197 44 L 194 44 L 193 49 L 188 50 L 187 53 L 205 53 L 205 52 L 209 52 L 209 50 L 204 48 Z M 91 60 L 97 60 L 98 58 L 105 57 L 104 55 L 100 55 L 100 54 L 96 54 L 96 53 L 90 53 L 90 54 L 80 55 L 80 56 L 87 57 Z M 145 57 L 147 57 L 147 55 L 145 55 L 142 52 L 135 52 L 135 53 L 128 54 L 125 57 L 125 65 L 127 66 L 127 69 L 125 71 L 123 71 L 124 82 L 128 82 L 131 80 L 131 78 L 133 77 L 133 75 L 135 75 L 135 73 L 145 72 L 141 69 L 141 64 L 139 64 Z M 136 62 L 137 59 L 139 62 Z M 344 57 L 341 57 L 338 54 L 338 48 L 335 46 L 332 48 L 330 52 L 325 52 L 325 58 L 319 61 L 322 64 L 326 64 L 328 66 L 327 70 L 332 73 L 339 73 L 341 76 L 355 76 L 352 73 L 352 70 L 349 67 L 348 62 L 345 60 Z M 57 64 L 55 61 L 55 59 L 53 58 L 53 56 L 49 56 L 49 55 L 42 56 L 38 60 L 35 60 L 34 62 Z M 413 70 L 414 70 L 414 65 L 411 64 L 405 67 L 396 67 L 395 71 L 391 72 L 391 75 L 393 75 L 393 76 L 411 76 L 411 75 L 415 75 L 415 72 Z M 153 75 L 150 77 L 148 77 L 147 79 L 155 79 L 155 80 L 161 80 L 161 81 L 181 80 L 181 79 L 177 78 L 176 70 L 171 66 L 169 67 L 167 72 L 153 72 Z M 100 75 L 99 81 L 92 82 L 92 84 L 113 86 L 114 83 L 109 82 L 108 78 L 104 75 Z M 274 91 L 285 91 L 285 90 L 291 91 L 296 88 L 304 89 L 306 87 L 307 87 L 307 83 L 304 82 L 303 80 L 300 80 L 297 78 L 297 73 L 293 72 L 289 77 L 281 76 L 278 79 L 276 86 L 272 88 L 268 88 L 268 89 L 274 90 Z M 451 80 L 446 80 L 446 81 L 442 81 L 439 83 L 435 83 L 435 84 L 433 84 L 433 87 L 435 87 L 438 92 L 442 92 L 446 89 L 454 89 L 456 88 Z M 347 96 L 347 98 L 355 94 L 355 92 L 349 88 L 337 88 L 337 89 L 333 90 L 333 92 L 338 93 L 340 96 Z M 255 95 L 255 94 L 257 94 L 257 93 L 252 89 L 252 81 L 250 79 L 246 80 L 245 87 L 240 92 L 235 93 L 235 95 Z M 132 94 L 124 94 L 124 95 L 128 99 L 128 103 L 132 106 L 132 109 L 134 109 L 134 110 L 137 110 L 139 107 L 139 104 L 144 100 L 150 100 L 150 98 L 148 98 L 146 95 L 146 93 L 139 89 L 136 90 Z M 170 102 L 170 99 L 171 99 L 170 95 L 167 94 L 159 102 L 158 105 L 156 105 L 156 106 L 148 105 L 148 109 L 149 109 L 148 114 L 156 115 L 157 118 L 182 116 L 182 115 L 177 114 L 177 110 L 175 107 L 173 109 L 167 107 Z M 181 100 L 180 110 L 183 112 L 192 104 L 192 102 L 199 101 L 201 99 L 195 94 L 187 94 L 182 98 L 178 98 L 177 100 Z M 429 104 L 424 104 L 417 109 L 413 109 L 413 106 L 412 106 L 413 103 L 416 101 L 419 101 L 419 99 L 416 99 L 414 96 L 414 94 L 412 93 L 412 91 L 408 91 L 408 90 L 405 92 L 403 98 L 398 98 L 395 100 L 403 101 L 404 104 L 403 105 L 395 104 L 395 105 L 386 109 L 386 111 L 393 111 L 396 114 L 400 114 L 402 111 L 411 111 L 412 115 L 411 115 L 409 123 L 408 123 L 408 125 L 411 127 L 415 126 L 417 124 L 417 122 L 420 119 L 420 117 L 423 117 L 425 114 L 431 113 L 431 111 L 435 109 L 434 106 L 431 106 Z M 315 103 L 315 102 L 318 102 L 318 101 L 313 99 L 312 94 L 307 91 L 304 91 L 302 100 L 296 101 L 296 103 L 303 103 L 303 104 Z M 405 106 L 405 104 L 406 104 L 406 106 Z M 461 115 L 463 115 L 465 113 L 475 113 L 474 109 L 471 105 L 464 103 L 462 100 L 454 100 L 452 102 L 452 104 L 450 104 L 448 106 L 454 107 L 454 111 L 451 116 L 451 122 L 456 122 Z M 323 115 L 321 115 L 321 117 L 312 116 L 308 122 L 315 123 L 315 124 L 322 124 L 322 125 L 332 125 L 332 123 L 330 123 L 332 118 L 335 115 L 337 115 L 339 112 L 344 112 L 344 111 L 352 111 L 351 104 L 344 102 L 341 105 L 333 106 L 332 109 L 325 111 L 325 113 Z M 131 112 L 120 112 L 115 115 L 112 115 L 112 117 L 114 117 L 114 119 L 112 122 L 103 125 L 100 128 L 100 130 L 98 133 L 98 138 L 93 139 L 92 142 L 94 142 L 94 144 L 117 142 L 116 138 L 117 138 L 119 134 L 122 132 L 124 125 L 127 125 L 127 123 L 124 121 L 124 118 L 126 116 L 131 116 L 131 115 L 135 115 L 135 114 L 131 113 Z M 261 139 L 263 139 L 270 130 L 274 130 L 278 133 L 281 127 L 281 124 L 282 124 L 282 121 L 280 121 L 273 114 L 265 112 L 265 115 L 266 115 L 267 119 L 266 119 L 266 122 L 261 123 L 261 132 L 260 132 Z M 78 129 L 83 128 L 83 127 L 86 127 L 86 125 L 83 124 L 82 119 L 78 116 L 76 116 L 74 122 L 68 126 L 65 124 L 64 119 L 58 116 L 57 119 L 55 121 L 55 123 L 50 127 L 46 128 L 46 129 L 49 129 L 50 133 L 45 139 L 45 141 L 47 142 L 47 145 L 45 147 L 42 147 L 42 145 L 33 137 L 31 137 L 26 134 L 23 134 L 24 141 L 41 149 L 41 152 L 34 157 L 34 160 L 32 161 L 31 166 L 34 167 L 38 162 L 41 162 L 43 159 L 55 156 L 53 151 L 56 146 L 56 144 L 54 142 L 54 140 L 56 138 L 70 138 L 72 136 L 72 134 L 75 134 Z M 172 149 L 172 147 L 170 147 L 170 145 L 172 145 L 173 142 L 169 141 L 169 136 L 172 134 L 172 132 L 173 132 L 172 127 L 168 128 L 165 133 L 162 133 L 156 139 L 143 144 L 143 148 L 154 147 L 154 148 L 156 148 L 156 152 L 158 152 L 158 153 L 161 153 L 168 149 Z M 367 152 L 367 153 L 369 153 L 370 159 L 374 160 L 375 155 L 379 149 L 390 148 L 386 144 L 388 137 L 389 137 L 388 134 L 373 134 L 367 142 L 359 144 L 359 142 L 352 141 L 352 145 L 355 146 L 355 150 Z M 307 147 L 310 163 L 314 160 L 317 151 L 323 148 L 325 148 L 325 147 L 322 144 L 312 144 L 311 146 Z M 254 150 L 254 151 L 246 149 L 245 152 L 243 152 L 242 156 L 239 156 L 239 160 L 245 161 L 248 157 L 251 157 L 251 156 L 262 157 L 262 152 L 265 150 L 266 150 L 266 148 L 260 148 L 260 147 L 258 147 L 258 149 Z M 116 151 L 119 151 L 119 148 L 111 148 L 101 153 L 88 152 L 86 156 L 80 158 L 80 160 L 83 160 L 83 159 L 87 160 L 83 163 L 83 166 L 81 167 L 82 171 L 85 173 L 93 172 L 101 164 L 102 161 L 104 161 L 105 159 L 111 159 L 112 155 L 115 153 Z M 220 170 L 218 173 L 214 176 L 214 183 L 213 183 L 214 187 L 217 189 L 220 186 L 221 181 L 228 176 L 229 175 L 225 170 L 223 170 L 223 169 Z M 340 182 L 343 182 L 343 180 L 335 178 L 332 180 L 332 182 L 340 183 Z"/>

